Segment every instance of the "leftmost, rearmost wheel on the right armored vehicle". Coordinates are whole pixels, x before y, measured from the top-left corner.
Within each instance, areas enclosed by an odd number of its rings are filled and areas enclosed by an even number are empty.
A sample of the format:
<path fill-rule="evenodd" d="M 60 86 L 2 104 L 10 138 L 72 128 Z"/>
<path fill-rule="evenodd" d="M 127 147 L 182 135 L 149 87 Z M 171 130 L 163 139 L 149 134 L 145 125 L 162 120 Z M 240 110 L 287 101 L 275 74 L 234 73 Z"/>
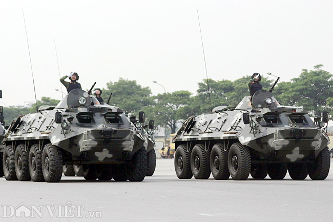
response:
<path fill-rule="evenodd" d="M 179 145 L 175 153 L 175 170 L 179 179 L 191 179 L 191 150 L 186 150 L 186 145 Z"/>

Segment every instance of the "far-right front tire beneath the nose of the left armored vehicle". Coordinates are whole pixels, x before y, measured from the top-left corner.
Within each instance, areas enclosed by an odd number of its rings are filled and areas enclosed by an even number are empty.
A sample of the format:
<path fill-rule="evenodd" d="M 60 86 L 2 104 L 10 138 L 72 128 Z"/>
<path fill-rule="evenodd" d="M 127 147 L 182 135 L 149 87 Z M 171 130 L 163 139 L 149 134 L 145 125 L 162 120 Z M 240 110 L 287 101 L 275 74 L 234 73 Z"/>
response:
<path fill-rule="evenodd" d="M 142 181 L 147 172 L 147 151 L 144 147 L 134 153 L 131 164 L 127 165 L 127 175 L 130 181 Z"/>

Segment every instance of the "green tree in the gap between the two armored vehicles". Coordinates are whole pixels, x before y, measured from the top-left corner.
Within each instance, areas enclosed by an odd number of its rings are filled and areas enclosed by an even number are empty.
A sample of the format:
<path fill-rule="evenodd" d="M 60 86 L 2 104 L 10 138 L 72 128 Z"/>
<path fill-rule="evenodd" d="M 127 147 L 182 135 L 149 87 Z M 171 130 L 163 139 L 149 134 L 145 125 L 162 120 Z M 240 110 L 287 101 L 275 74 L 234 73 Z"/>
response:
<path fill-rule="evenodd" d="M 170 127 L 171 133 L 175 133 L 178 120 L 189 117 L 184 107 L 188 107 L 191 94 L 184 90 L 158 94 L 153 96 L 155 105 L 145 107 L 144 111 L 149 112 L 149 118 L 155 120 L 156 126 L 163 127 L 165 124 Z"/>

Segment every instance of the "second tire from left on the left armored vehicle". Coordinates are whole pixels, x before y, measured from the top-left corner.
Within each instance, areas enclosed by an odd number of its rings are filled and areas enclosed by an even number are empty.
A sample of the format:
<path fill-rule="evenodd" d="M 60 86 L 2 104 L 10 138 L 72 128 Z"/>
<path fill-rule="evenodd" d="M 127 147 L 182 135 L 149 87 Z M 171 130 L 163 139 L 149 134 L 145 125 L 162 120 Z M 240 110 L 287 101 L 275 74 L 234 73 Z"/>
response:
<path fill-rule="evenodd" d="M 17 179 L 20 181 L 30 181 L 29 172 L 29 151 L 25 151 L 24 144 L 17 145 L 15 149 L 15 172 Z"/>

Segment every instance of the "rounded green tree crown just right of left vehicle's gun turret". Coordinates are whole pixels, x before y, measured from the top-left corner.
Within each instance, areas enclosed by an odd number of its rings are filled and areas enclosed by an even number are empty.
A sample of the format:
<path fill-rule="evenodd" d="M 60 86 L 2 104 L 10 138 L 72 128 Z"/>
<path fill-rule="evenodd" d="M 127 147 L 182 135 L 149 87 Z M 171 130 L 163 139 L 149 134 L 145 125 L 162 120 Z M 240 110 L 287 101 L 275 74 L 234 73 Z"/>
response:
<path fill-rule="evenodd" d="M 142 107 L 153 104 L 149 87 L 142 87 L 136 80 L 119 78 L 118 82 L 107 83 L 107 89 L 102 89 L 102 97 L 107 102 L 110 94 L 110 105 L 117 106 L 129 113 L 138 113 Z"/>

